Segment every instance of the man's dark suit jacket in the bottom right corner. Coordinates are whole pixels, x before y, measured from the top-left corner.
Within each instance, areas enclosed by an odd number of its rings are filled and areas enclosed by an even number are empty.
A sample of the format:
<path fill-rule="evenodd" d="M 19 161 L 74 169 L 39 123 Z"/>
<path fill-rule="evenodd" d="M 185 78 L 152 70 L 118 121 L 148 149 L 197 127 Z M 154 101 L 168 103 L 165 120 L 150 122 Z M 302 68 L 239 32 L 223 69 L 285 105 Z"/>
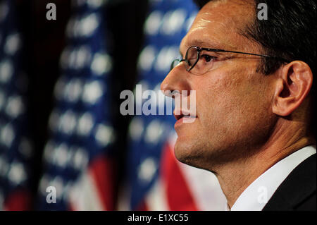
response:
<path fill-rule="evenodd" d="M 280 184 L 263 211 L 316 211 L 316 154 L 305 159 Z"/>

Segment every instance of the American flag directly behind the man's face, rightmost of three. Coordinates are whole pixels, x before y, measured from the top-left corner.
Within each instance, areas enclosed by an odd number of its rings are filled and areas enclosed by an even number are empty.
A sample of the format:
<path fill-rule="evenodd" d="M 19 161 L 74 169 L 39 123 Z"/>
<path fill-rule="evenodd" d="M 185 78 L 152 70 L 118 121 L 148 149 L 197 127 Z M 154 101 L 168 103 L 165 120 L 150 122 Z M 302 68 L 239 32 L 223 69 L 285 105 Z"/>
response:
<path fill-rule="evenodd" d="M 142 85 L 143 91 L 159 92 L 171 61 L 180 58 L 180 41 L 196 14 L 192 0 L 150 1 L 149 16 L 144 25 L 146 42 L 138 63 L 138 84 Z M 163 104 L 158 105 L 157 109 Z M 226 200 L 216 176 L 175 159 L 174 123 L 173 115 L 132 118 L 127 179 L 119 209 L 225 209 Z"/>

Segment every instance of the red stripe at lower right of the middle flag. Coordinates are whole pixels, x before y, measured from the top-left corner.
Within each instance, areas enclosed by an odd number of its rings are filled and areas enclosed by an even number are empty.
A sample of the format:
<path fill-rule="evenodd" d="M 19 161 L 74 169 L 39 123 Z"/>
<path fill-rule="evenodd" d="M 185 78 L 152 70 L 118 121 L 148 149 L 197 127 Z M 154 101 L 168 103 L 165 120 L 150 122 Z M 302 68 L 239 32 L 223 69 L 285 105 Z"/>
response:
<path fill-rule="evenodd" d="M 113 169 L 113 160 L 108 157 L 97 157 L 89 165 L 89 175 L 94 179 L 98 196 L 101 199 L 101 203 L 104 210 L 115 209 L 115 174 Z"/>

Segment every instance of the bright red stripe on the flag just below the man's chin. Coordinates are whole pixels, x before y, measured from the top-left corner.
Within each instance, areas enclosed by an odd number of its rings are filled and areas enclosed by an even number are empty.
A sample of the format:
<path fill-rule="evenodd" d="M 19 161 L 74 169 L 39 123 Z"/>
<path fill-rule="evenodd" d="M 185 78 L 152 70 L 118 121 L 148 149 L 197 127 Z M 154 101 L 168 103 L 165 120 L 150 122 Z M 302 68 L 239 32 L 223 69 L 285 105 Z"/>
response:
<path fill-rule="evenodd" d="M 198 210 L 197 205 L 173 152 L 170 145 L 166 145 L 161 159 L 161 175 L 163 176 L 163 185 L 166 188 L 168 205 L 170 210 L 196 211 Z"/>

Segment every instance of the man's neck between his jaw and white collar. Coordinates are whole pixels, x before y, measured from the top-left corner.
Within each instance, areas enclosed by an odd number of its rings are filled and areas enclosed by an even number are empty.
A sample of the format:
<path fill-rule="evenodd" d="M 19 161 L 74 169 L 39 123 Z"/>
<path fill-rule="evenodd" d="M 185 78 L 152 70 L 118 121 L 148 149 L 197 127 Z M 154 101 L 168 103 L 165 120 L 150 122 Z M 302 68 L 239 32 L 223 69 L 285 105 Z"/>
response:
<path fill-rule="evenodd" d="M 242 192 L 271 166 L 302 147 L 316 144 L 313 137 L 304 133 L 304 129 L 296 126 L 281 126 L 273 132 L 265 145 L 254 149 L 257 154 L 218 168 L 216 176 L 228 206 L 232 207 Z"/>

